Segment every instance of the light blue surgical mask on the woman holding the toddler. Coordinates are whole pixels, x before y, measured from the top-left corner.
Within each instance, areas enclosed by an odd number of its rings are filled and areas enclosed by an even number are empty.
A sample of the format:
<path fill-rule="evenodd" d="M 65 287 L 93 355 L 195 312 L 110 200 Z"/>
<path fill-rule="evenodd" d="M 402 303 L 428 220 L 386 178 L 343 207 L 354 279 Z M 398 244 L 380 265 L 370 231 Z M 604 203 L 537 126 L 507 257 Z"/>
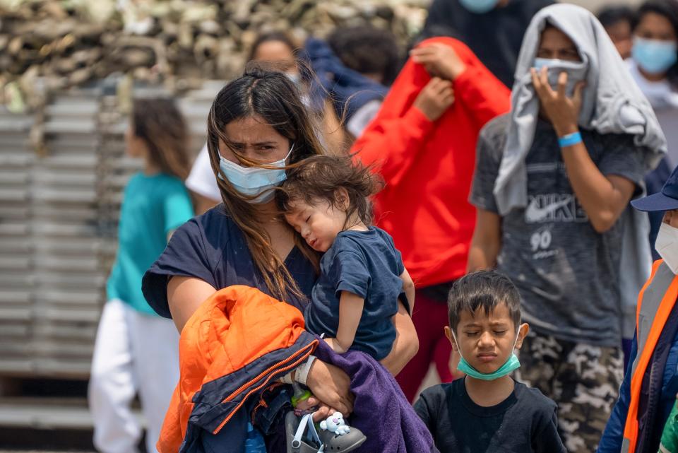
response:
<path fill-rule="evenodd" d="M 245 196 L 256 196 L 255 199 L 250 201 L 251 203 L 267 203 L 275 196 L 273 189 L 287 179 L 285 161 L 290 157 L 294 148 L 295 145 L 292 143 L 290 152 L 287 153 L 285 158 L 266 164 L 278 168 L 241 167 L 221 155 L 219 156 L 219 167 L 234 189 Z M 221 177 L 221 174 L 219 177 Z"/>

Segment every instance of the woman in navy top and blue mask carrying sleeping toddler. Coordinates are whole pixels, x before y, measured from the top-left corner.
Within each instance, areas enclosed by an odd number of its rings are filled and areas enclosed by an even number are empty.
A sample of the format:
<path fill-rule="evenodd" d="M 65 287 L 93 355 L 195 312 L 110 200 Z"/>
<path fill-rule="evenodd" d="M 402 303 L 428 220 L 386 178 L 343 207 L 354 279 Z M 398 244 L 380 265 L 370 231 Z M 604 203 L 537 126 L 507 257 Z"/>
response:
<path fill-rule="evenodd" d="M 246 70 L 215 98 L 208 149 L 223 204 L 174 233 L 143 279 L 146 299 L 159 314 L 172 317 L 179 331 L 203 301 L 232 285 L 258 288 L 303 312 L 316 281 L 318 256 L 279 215 L 274 199 L 287 165 L 323 153 L 297 88 L 282 73 Z M 417 351 L 417 336 L 402 302 L 392 321 L 396 339 L 381 362 L 396 373 Z M 256 329 L 265 328 L 256 324 Z M 309 358 L 307 363 L 297 368 L 304 371 L 302 384 L 347 416 L 353 403 L 347 374 L 321 360 Z M 316 420 L 327 415 L 326 406 L 316 412 Z M 279 421 L 258 427 L 268 442 L 280 436 Z M 229 423 L 220 435 L 232 451 L 240 451 L 246 427 Z"/>

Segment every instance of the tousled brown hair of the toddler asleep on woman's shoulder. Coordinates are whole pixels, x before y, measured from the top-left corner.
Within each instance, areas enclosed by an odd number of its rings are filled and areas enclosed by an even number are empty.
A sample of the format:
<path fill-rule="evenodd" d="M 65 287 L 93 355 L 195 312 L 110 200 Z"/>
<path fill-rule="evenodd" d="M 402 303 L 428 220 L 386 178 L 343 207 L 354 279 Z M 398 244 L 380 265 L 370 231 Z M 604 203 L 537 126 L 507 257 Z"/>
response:
<path fill-rule="evenodd" d="M 348 195 L 347 221 L 356 214 L 362 223 L 371 225 L 369 196 L 379 192 L 383 183 L 369 167 L 354 163 L 350 155 L 314 155 L 288 168 L 287 180 L 275 196 L 281 211 L 290 211 L 295 201 L 306 204 L 326 201 L 343 209 L 345 200 L 338 189 L 345 189 Z"/>

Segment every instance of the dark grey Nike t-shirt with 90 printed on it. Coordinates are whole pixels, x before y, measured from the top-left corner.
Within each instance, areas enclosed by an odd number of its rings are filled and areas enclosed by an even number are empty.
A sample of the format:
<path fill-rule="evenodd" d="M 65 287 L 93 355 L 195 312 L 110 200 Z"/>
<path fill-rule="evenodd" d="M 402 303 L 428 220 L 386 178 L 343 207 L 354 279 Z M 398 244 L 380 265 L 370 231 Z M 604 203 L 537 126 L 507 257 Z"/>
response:
<path fill-rule="evenodd" d="M 497 212 L 492 190 L 506 142 L 509 115 L 480 132 L 470 202 Z M 642 152 L 629 135 L 581 131 L 588 153 L 603 175 L 619 175 L 640 184 Z M 558 339 L 619 346 L 622 312 L 619 256 L 622 225 L 597 233 L 579 204 L 566 174 L 551 124 L 537 122 L 525 159 L 528 206 L 501 219 L 497 269 L 516 283 L 525 322 Z"/>

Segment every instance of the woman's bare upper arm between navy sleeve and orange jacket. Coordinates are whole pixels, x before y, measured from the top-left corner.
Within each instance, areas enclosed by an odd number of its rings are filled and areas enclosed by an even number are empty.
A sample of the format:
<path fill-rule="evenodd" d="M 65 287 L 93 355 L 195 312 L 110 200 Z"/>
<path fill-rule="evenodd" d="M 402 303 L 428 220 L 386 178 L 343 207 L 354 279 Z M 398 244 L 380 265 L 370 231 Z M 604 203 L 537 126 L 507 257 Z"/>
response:
<path fill-rule="evenodd" d="M 167 304 L 179 332 L 184 324 L 217 290 L 200 278 L 173 276 L 167 283 Z"/>

